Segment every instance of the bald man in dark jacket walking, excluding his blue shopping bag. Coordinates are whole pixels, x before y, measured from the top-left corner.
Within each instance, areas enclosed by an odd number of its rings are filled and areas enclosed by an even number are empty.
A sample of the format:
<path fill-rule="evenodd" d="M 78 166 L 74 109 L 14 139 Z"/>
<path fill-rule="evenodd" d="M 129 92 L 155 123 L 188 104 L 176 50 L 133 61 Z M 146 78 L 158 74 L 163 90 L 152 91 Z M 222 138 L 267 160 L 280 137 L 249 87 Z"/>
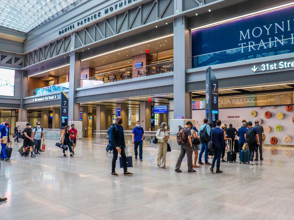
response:
<path fill-rule="evenodd" d="M 123 135 L 123 119 L 122 117 L 117 117 L 116 118 L 116 123 L 112 125 L 111 127 L 111 147 L 112 147 L 112 164 L 111 164 L 111 175 L 113 176 L 118 176 L 115 172 L 115 165 L 116 165 L 116 160 L 118 157 L 118 154 L 122 156 L 123 160 L 123 170 L 124 170 L 124 175 L 125 176 L 132 176 L 133 174 L 128 172 L 127 170 L 127 165 L 126 165 L 126 144 L 125 144 L 125 138 Z"/>

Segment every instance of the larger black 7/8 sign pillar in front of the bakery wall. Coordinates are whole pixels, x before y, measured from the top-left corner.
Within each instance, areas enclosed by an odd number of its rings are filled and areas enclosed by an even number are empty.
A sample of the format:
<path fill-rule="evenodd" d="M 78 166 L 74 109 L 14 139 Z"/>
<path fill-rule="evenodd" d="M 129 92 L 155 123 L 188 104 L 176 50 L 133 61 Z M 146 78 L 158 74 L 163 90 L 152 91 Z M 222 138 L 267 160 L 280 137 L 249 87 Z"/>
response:
<path fill-rule="evenodd" d="M 218 120 L 218 81 L 210 67 L 205 71 L 205 91 L 205 117 L 215 127 Z"/>

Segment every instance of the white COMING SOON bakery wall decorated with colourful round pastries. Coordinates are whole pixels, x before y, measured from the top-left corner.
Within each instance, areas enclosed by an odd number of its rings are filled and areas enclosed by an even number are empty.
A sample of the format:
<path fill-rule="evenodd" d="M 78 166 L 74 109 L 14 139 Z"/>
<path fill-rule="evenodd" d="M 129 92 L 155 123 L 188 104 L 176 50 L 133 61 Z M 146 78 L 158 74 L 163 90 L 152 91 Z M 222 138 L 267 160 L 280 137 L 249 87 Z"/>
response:
<path fill-rule="evenodd" d="M 222 124 L 233 124 L 237 130 L 242 120 L 247 122 L 258 120 L 262 125 L 266 145 L 293 145 L 294 146 L 294 108 L 293 105 L 246 107 L 246 108 L 220 108 L 219 119 Z M 192 119 L 199 122 L 205 118 L 205 110 L 193 110 Z M 200 125 L 201 126 L 201 125 Z"/>

